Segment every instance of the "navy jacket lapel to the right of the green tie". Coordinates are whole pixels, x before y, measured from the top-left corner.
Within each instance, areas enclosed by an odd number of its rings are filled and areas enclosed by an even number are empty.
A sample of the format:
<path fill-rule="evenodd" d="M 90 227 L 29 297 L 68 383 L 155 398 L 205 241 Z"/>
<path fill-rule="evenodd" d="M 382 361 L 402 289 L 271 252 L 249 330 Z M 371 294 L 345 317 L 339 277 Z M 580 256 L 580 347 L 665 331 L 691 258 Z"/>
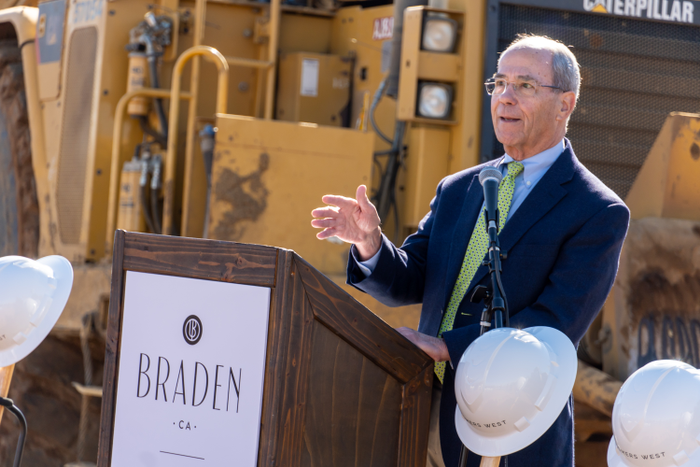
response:
<path fill-rule="evenodd" d="M 513 214 L 513 217 L 508 219 L 505 227 L 501 230 L 498 236 L 501 250 L 508 252 L 530 227 L 544 217 L 564 196 L 566 196 L 567 191 L 562 188 L 561 185 L 571 180 L 573 177 L 574 158 L 575 156 L 571 149 L 571 144 L 567 140 L 564 152 L 562 152 L 559 158 L 552 164 L 547 173 L 544 174 L 542 179 L 537 183 L 537 186 L 533 188 L 532 193 L 525 198 L 523 204 L 521 204 L 515 214 Z M 507 263 L 504 263 L 504 267 L 507 267 Z M 480 266 L 479 269 L 477 269 L 465 297 L 471 294 L 471 289 L 474 285 L 478 284 L 487 273 L 488 268 L 485 266 Z"/>

